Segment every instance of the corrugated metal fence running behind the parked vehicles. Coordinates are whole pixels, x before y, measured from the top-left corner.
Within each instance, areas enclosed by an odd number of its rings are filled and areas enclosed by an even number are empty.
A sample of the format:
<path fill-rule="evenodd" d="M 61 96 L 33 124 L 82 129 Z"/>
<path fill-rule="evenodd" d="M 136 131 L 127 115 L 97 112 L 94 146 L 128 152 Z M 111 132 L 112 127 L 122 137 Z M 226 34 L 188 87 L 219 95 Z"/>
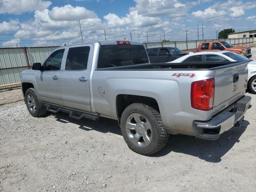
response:
<path fill-rule="evenodd" d="M 176 47 L 181 50 L 195 49 L 200 42 L 226 41 L 234 46 L 253 43 L 253 38 L 211 39 L 173 42 L 144 43 L 146 48 Z M 57 47 L 0 48 L 0 85 L 20 82 L 20 73 L 32 63 L 41 62 Z M 14 86 L 9 86 L 14 87 Z M 6 87 L 1 87 L 3 89 Z"/>

